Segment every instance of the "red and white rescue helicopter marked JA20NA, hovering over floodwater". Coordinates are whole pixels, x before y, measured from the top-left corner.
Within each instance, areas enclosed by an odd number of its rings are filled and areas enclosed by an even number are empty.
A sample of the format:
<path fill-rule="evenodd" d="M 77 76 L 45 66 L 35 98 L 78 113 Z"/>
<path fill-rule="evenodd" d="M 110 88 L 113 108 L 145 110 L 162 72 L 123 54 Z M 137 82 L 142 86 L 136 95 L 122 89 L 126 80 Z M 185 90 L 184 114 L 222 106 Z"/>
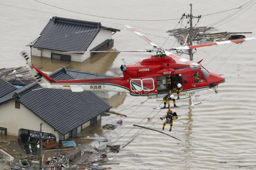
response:
<path fill-rule="evenodd" d="M 121 65 L 123 77 L 96 78 L 96 79 L 76 79 L 76 80 L 53 80 L 37 67 L 31 65 L 30 55 L 26 51 L 20 54 L 30 65 L 30 73 L 35 76 L 37 82 L 43 88 L 55 88 L 72 90 L 72 92 L 93 91 L 93 92 L 125 92 L 133 96 L 160 96 L 166 95 L 172 90 L 172 85 L 181 84 L 183 92 L 181 94 L 192 94 L 197 91 L 213 89 L 217 93 L 217 87 L 225 82 L 225 78 L 218 74 L 210 73 L 200 62 L 193 62 L 188 59 L 174 55 L 170 51 L 187 50 L 199 47 L 226 43 L 240 43 L 253 38 L 243 38 L 223 42 L 212 42 L 200 45 L 183 46 L 172 49 L 163 49 L 151 42 L 145 35 L 141 34 L 131 26 L 129 30 L 139 35 L 153 46 L 152 50 L 147 51 L 121 51 L 121 52 L 156 52 L 148 59 L 137 63 Z M 91 51 L 91 52 L 117 52 L 117 51 Z M 169 85 L 168 78 L 171 78 L 172 85 Z M 183 98 L 185 99 L 185 98 Z M 201 104 L 193 104 L 199 105 Z M 186 105 L 186 106 L 192 106 Z"/>

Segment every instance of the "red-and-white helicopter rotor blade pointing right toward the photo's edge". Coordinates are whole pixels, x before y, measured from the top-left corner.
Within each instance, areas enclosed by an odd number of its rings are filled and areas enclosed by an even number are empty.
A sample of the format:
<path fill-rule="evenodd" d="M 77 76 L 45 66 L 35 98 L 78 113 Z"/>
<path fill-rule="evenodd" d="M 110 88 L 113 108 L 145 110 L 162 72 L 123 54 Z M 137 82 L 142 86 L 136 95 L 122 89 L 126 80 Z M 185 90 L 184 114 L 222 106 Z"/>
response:
<path fill-rule="evenodd" d="M 170 50 L 189 50 L 189 49 L 195 49 L 195 48 L 200 48 L 200 47 L 209 47 L 212 45 L 227 44 L 227 43 L 232 43 L 232 42 L 233 43 L 245 42 L 245 41 L 254 40 L 254 39 L 256 39 L 256 38 L 251 37 L 251 38 L 241 38 L 241 39 L 236 39 L 236 40 L 228 40 L 228 41 L 220 41 L 220 42 L 210 42 L 210 43 L 199 44 L 199 45 L 176 47 L 176 48 L 172 48 Z"/>

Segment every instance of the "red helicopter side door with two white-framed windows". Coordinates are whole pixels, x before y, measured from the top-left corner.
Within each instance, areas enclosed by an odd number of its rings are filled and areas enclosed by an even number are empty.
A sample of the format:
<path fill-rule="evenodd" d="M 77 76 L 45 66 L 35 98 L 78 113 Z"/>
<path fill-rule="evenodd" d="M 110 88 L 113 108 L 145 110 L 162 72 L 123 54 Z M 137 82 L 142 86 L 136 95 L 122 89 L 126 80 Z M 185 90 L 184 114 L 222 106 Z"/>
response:
<path fill-rule="evenodd" d="M 129 78 L 130 94 L 133 96 L 156 95 L 157 85 L 155 77 Z"/>

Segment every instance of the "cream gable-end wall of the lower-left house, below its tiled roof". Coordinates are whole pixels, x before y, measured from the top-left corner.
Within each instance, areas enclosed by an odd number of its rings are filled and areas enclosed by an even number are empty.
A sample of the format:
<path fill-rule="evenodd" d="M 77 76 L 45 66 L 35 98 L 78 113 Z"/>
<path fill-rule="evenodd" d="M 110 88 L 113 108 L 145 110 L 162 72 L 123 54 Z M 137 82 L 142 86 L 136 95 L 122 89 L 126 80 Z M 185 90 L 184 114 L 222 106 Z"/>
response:
<path fill-rule="evenodd" d="M 54 134 L 57 141 L 59 140 L 58 132 L 54 131 L 53 127 L 21 103 L 20 109 L 15 108 L 15 100 L 0 105 L 0 127 L 7 128 L 7 135 L 18 136 L 18 130 L 21 128 L 39 131 L 40 123 L 43 123 L 43 132 Z"/>

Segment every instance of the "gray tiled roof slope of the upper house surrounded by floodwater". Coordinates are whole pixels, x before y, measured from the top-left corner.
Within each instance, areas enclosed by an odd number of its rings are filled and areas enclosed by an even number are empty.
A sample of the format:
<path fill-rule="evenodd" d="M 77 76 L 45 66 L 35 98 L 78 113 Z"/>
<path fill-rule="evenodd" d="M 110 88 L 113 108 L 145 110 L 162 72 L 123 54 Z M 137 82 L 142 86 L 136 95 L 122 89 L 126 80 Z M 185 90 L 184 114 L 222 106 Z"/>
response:
<path fill-rule="evenodd" d="M 52 17 L 34 46 L 57 51 L 86 51 L 100 29 L 98 22 Z"/>

